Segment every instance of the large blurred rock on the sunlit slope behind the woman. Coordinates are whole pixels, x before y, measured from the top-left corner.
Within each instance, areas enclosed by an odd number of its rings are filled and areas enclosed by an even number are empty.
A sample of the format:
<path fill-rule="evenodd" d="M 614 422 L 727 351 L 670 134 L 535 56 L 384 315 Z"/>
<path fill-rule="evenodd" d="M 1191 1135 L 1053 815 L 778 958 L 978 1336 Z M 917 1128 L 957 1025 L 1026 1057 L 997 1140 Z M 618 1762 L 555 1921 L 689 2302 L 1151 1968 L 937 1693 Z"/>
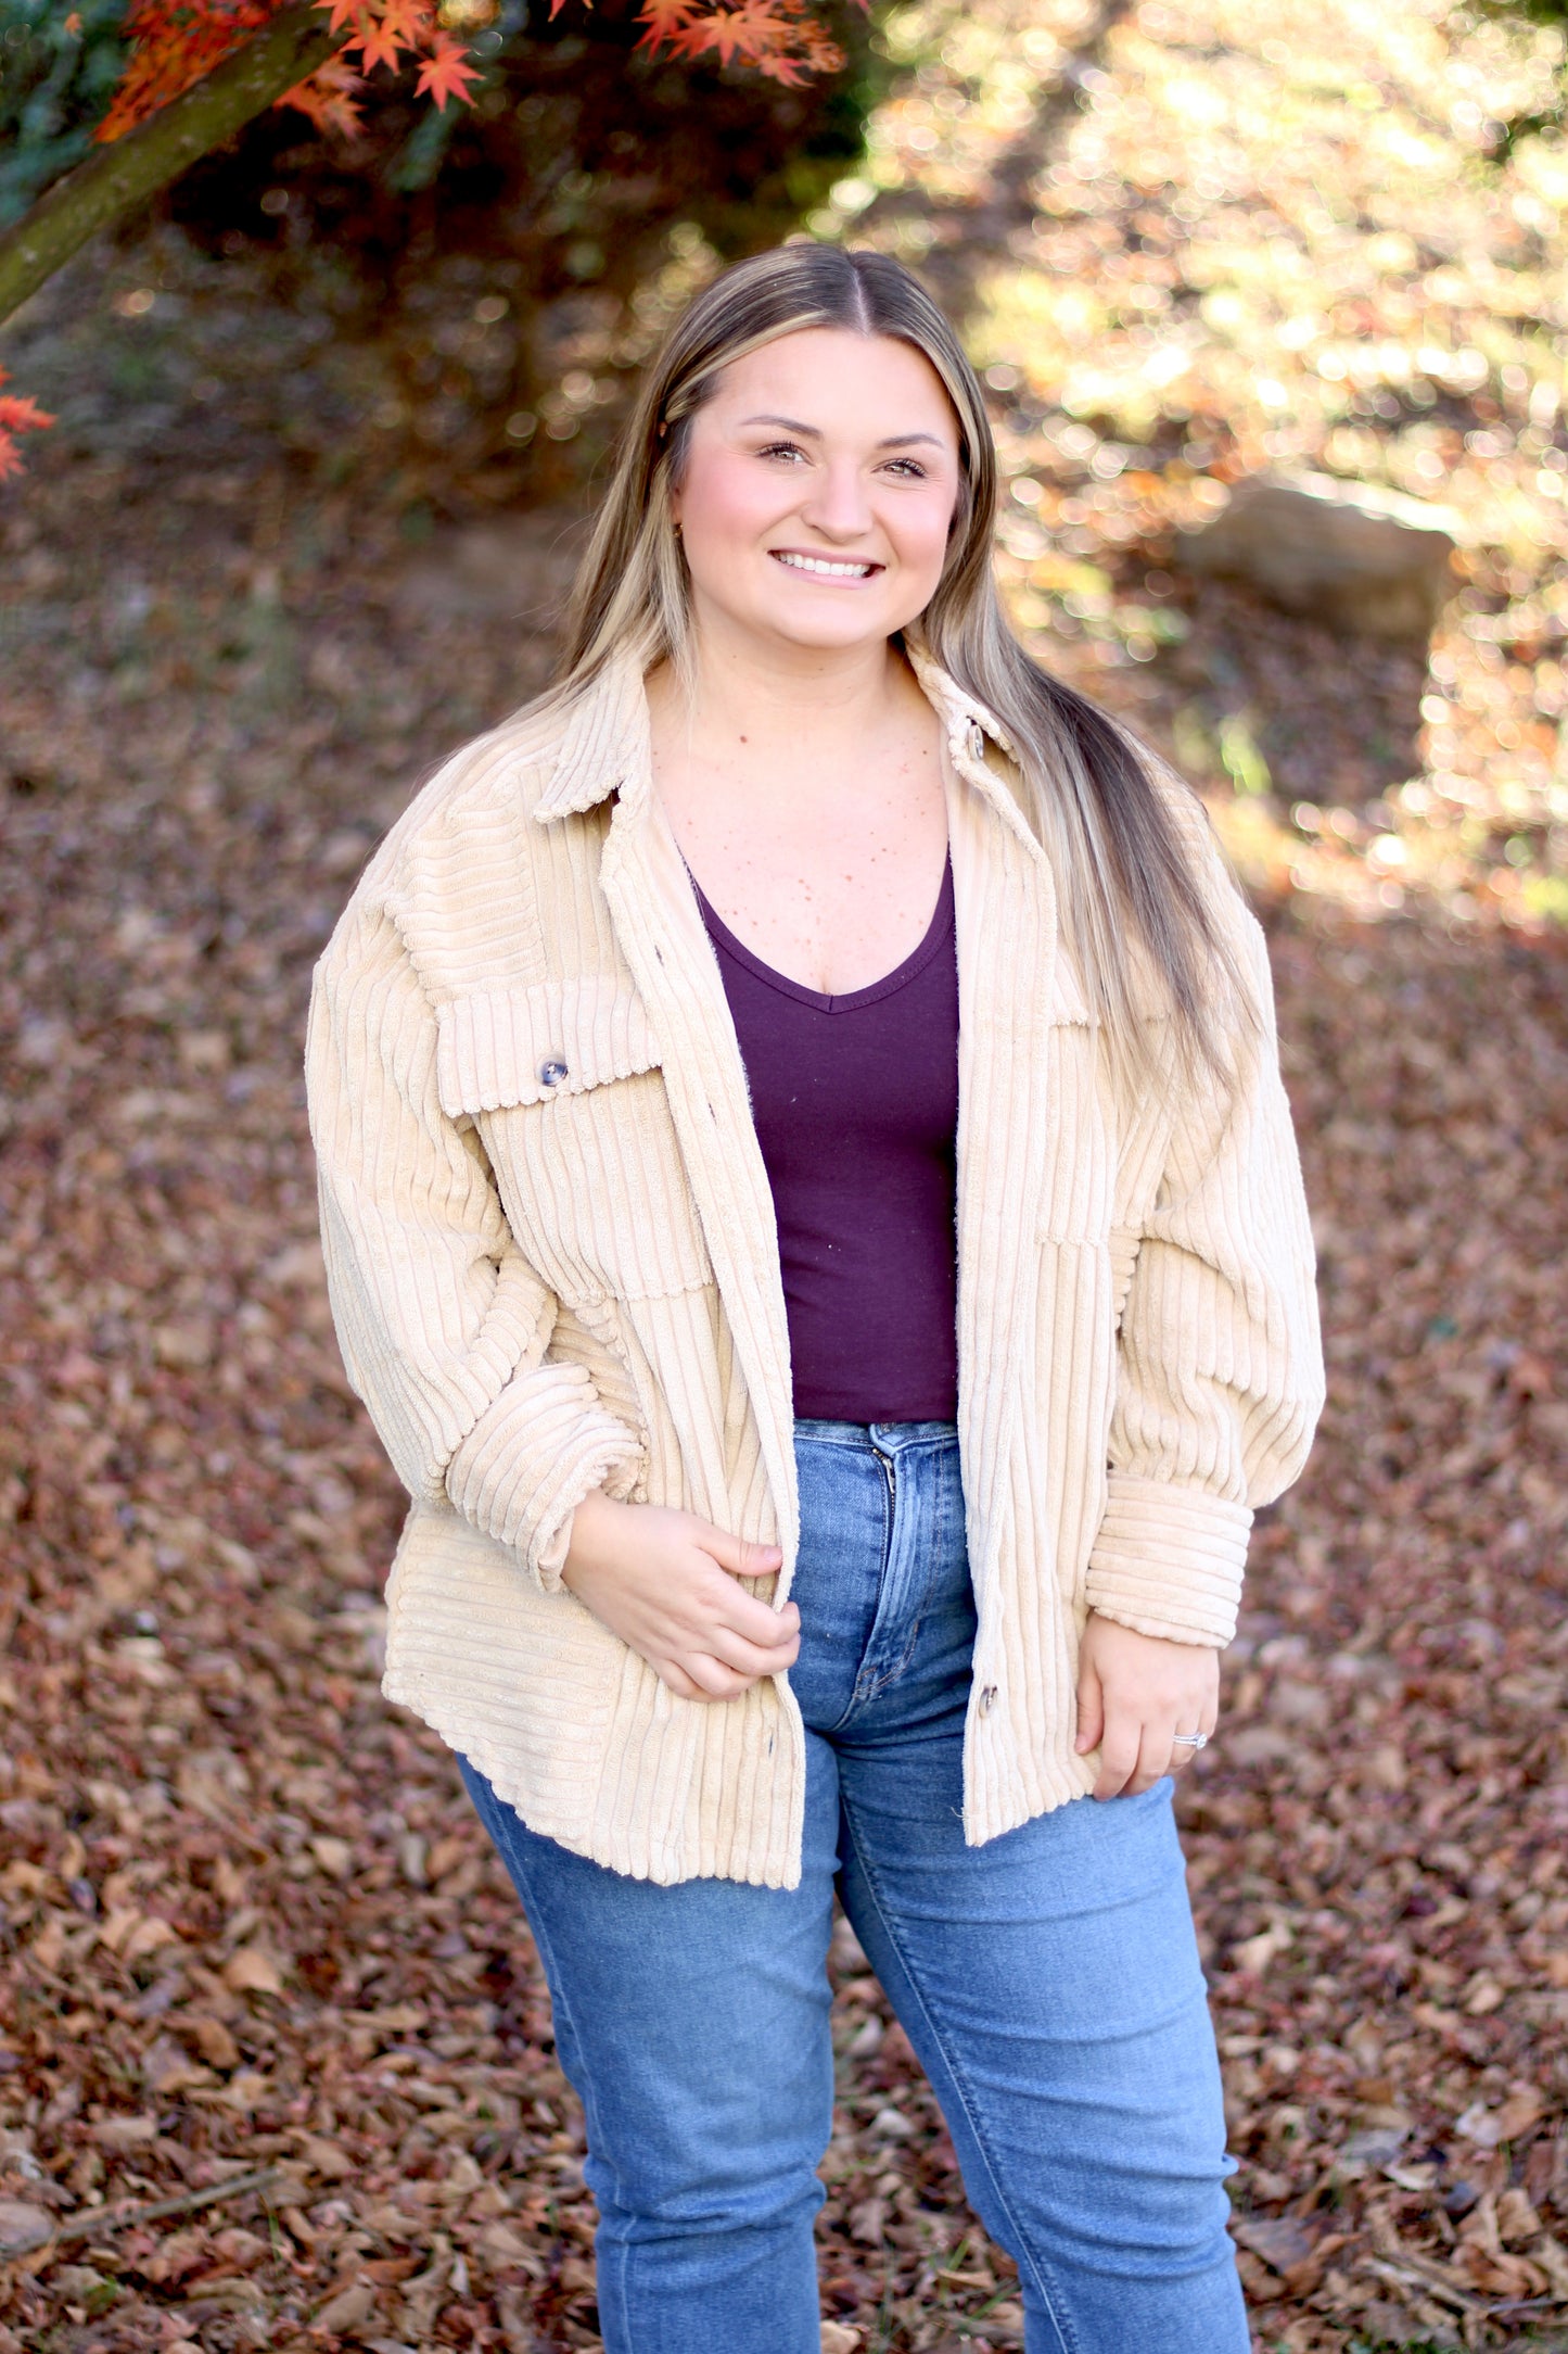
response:
<path fill-rule="evenodd" d="M 1432 633 L 1453 588 L 1458 539 L 1450 508 L 1378 483 L 1251 476 L 1211 525 L 1178 537 L 1178 563 L 1335 629 L 1410 640 Z"/>

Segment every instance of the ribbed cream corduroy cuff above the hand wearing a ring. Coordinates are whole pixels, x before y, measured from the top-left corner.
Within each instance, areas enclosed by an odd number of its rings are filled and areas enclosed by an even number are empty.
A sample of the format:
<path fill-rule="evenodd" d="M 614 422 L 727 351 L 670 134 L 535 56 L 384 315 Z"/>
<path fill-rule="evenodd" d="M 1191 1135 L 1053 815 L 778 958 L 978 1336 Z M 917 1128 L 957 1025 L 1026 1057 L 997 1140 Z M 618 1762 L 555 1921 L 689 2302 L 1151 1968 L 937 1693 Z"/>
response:
<path fill-rule="evenodd" d="M 1237 1631 L 1248 1504 L 1175 1481 L 1110 1474 L 1086 1601 L 1138 1634 L 1222 1650 Z"/>

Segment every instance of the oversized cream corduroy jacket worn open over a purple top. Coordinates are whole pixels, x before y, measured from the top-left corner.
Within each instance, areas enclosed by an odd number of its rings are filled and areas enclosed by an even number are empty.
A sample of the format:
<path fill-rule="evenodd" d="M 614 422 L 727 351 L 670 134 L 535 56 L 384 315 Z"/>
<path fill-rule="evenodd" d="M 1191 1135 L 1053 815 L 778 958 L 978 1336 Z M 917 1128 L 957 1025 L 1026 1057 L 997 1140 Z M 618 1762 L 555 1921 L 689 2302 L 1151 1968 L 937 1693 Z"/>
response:
<path fill-rule="evenodd" d="M 1100 1610 L 1222 1645 L 1253 1507 L 1321 1405 L 1262 935 L 1229 1097 L 1119 1092 L 997 723 L 943 723 L 959 956 L 971 1843 L 1081 1796 Z M 310 1128 L 348 1375 L 414 1504 L 383 1690 L 536 1831 L 639 1878 L 799 1878 L 788 1676 L 686 1702 L 559 1582 L 592 1488 L 799 1535 L 790 1342 L 724 984 L 651 784 L 642 676 L 454 753 L 315 970 Z"/>

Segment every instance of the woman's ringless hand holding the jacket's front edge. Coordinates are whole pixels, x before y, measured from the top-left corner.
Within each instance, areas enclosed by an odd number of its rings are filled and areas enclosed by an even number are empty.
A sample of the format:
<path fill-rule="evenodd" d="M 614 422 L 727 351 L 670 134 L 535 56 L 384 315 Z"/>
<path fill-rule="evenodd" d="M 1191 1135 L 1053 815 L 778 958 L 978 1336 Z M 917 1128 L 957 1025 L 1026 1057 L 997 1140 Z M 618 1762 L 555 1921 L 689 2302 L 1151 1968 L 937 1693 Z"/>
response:
<path fill-rule="evenodd" d="M 748 1544 L 663 1504 L 616 1504 L 595 1488 L 571 1516 L 562 1584 L 682 1700 L 736 1700 L 799 1655 L 799 1610 L 748 1594 L 776 1544 Z"/>

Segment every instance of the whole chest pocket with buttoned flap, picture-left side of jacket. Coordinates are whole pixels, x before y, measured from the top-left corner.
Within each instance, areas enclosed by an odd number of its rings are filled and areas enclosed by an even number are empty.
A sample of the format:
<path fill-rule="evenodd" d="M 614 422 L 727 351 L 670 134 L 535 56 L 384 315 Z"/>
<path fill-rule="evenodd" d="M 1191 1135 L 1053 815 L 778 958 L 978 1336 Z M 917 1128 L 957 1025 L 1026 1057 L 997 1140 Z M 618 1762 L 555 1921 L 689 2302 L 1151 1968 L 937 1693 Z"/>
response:
<path fill-rule="evenodd" d="M 567 1302 L 698 1290 L 712 1262 L 658 1045 L 621 975 L 437 1012 L 442 1111 L 489 1153 L 517 1248 Z"/>

